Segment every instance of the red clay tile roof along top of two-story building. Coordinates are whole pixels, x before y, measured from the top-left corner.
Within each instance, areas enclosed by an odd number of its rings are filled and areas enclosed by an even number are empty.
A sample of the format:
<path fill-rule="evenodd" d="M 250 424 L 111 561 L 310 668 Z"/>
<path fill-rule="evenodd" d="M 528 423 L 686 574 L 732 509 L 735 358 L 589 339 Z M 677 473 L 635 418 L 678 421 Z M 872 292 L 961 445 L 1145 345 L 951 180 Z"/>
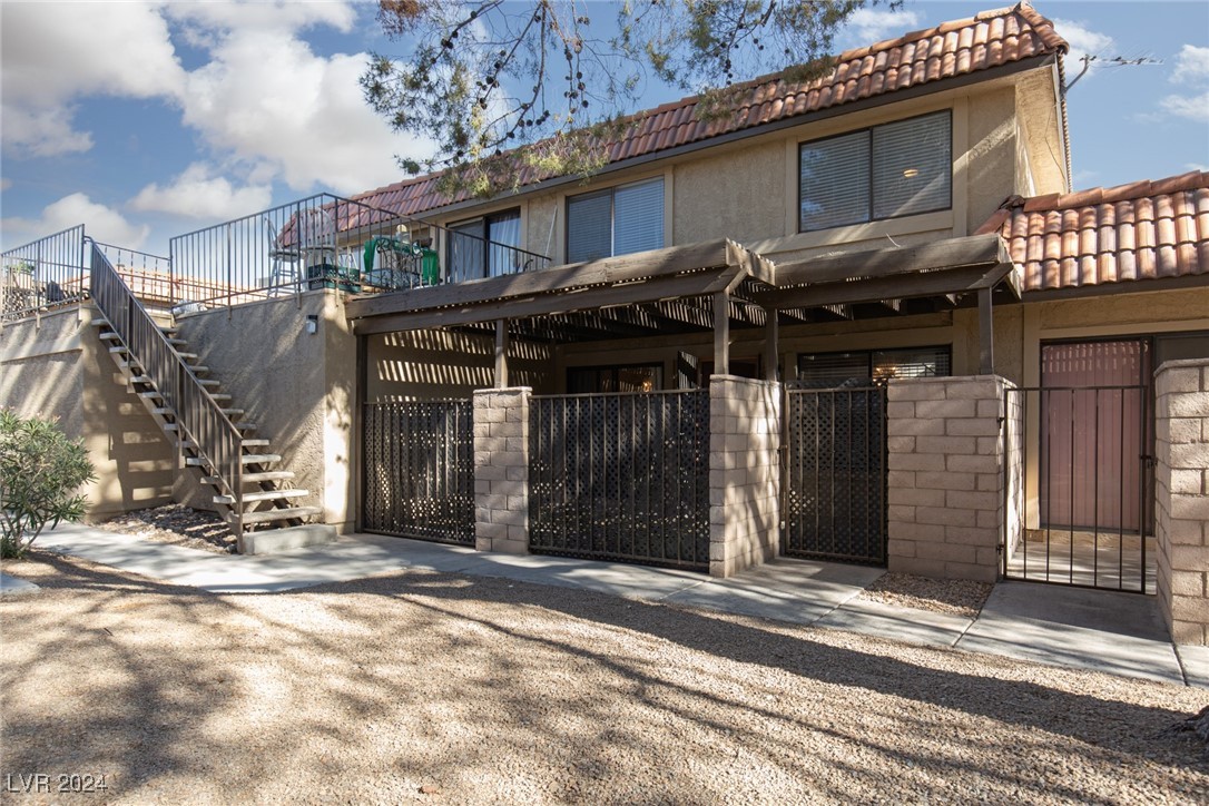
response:
<path fill-rule="evenodd" d="M 806 83 L 783 81 L 779 75 L 756 79 L 737 88 L 734 114 L 725 118 L 698 120 L 698 97 L 664 104 L 635 115 L 634 131 L 620 143 L 598 145 L 609 162 L 620 162 L 1066 50 L 1053 23 L 1022 2 L 846 51 L 835 58 L 831 73 Z M 517 173 L 522 186 L 556 178 L 527 167 Z M 435 192 L 436 180 L 438 174 L 417 176 L 354 199 L 405 215 L 469 199 L 468 195 L 441 197 Z"/>

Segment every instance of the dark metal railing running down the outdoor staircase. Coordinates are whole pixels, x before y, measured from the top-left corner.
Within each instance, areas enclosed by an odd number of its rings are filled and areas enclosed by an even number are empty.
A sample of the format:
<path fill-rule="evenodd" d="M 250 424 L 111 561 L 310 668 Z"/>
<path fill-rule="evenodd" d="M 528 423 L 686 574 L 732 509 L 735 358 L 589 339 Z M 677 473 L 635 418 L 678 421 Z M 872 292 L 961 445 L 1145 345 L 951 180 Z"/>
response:
<path fill-rule="evenodd" d="M 232 498 L 231 528 L 238 534 L 243 526 L 243 437 L 239 429 L 122 282 L 99 245 L 88 240 L 92 244 L 93 302 L 126 346 L 127 360 L 139 361 L 163 406 L 175 414 L 178 446 L 191 440 L 197 453 L 209 463 L 220 492 Z"/>

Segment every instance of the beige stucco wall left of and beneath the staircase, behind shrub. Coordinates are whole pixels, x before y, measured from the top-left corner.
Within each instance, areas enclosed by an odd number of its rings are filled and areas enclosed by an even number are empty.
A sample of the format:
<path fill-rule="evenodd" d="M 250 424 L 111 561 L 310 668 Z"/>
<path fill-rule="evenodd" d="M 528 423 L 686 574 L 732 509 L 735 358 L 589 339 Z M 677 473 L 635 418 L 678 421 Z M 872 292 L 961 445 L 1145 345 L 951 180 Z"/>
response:
<path fill-rule="evenodd" d="M 88 518 L 99 521 L 170 501 L 175 451 L 128 393 L 91 321 L 86 306 L 6 325 L 0 406 L 54 417 L 68 436 L 83 440 L 97 481 L 82 492 Z"/>

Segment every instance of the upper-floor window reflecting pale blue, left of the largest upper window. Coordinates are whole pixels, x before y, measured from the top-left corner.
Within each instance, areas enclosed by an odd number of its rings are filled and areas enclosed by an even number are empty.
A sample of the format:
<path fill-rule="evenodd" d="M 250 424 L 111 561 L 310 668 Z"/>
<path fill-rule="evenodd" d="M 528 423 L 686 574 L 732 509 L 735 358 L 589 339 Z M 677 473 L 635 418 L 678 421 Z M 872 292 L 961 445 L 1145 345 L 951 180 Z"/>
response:
<path fill-rule="evenodd" d="M 568 263 L 663 245 L 663 176 L 567 199 Z"/>

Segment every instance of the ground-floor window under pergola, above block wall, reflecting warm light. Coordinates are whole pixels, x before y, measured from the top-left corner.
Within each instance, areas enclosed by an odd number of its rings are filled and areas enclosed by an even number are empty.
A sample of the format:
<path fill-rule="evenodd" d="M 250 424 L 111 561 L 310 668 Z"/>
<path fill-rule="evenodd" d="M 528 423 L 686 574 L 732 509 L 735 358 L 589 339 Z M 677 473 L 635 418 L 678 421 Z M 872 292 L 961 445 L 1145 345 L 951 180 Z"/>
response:
<path fill-rule="evenodd" d="M 951 372 L 948 346 L 798 355 L 798 384 L 811 388 L 880 385 L 891 378 L 945 377 Z"/>

